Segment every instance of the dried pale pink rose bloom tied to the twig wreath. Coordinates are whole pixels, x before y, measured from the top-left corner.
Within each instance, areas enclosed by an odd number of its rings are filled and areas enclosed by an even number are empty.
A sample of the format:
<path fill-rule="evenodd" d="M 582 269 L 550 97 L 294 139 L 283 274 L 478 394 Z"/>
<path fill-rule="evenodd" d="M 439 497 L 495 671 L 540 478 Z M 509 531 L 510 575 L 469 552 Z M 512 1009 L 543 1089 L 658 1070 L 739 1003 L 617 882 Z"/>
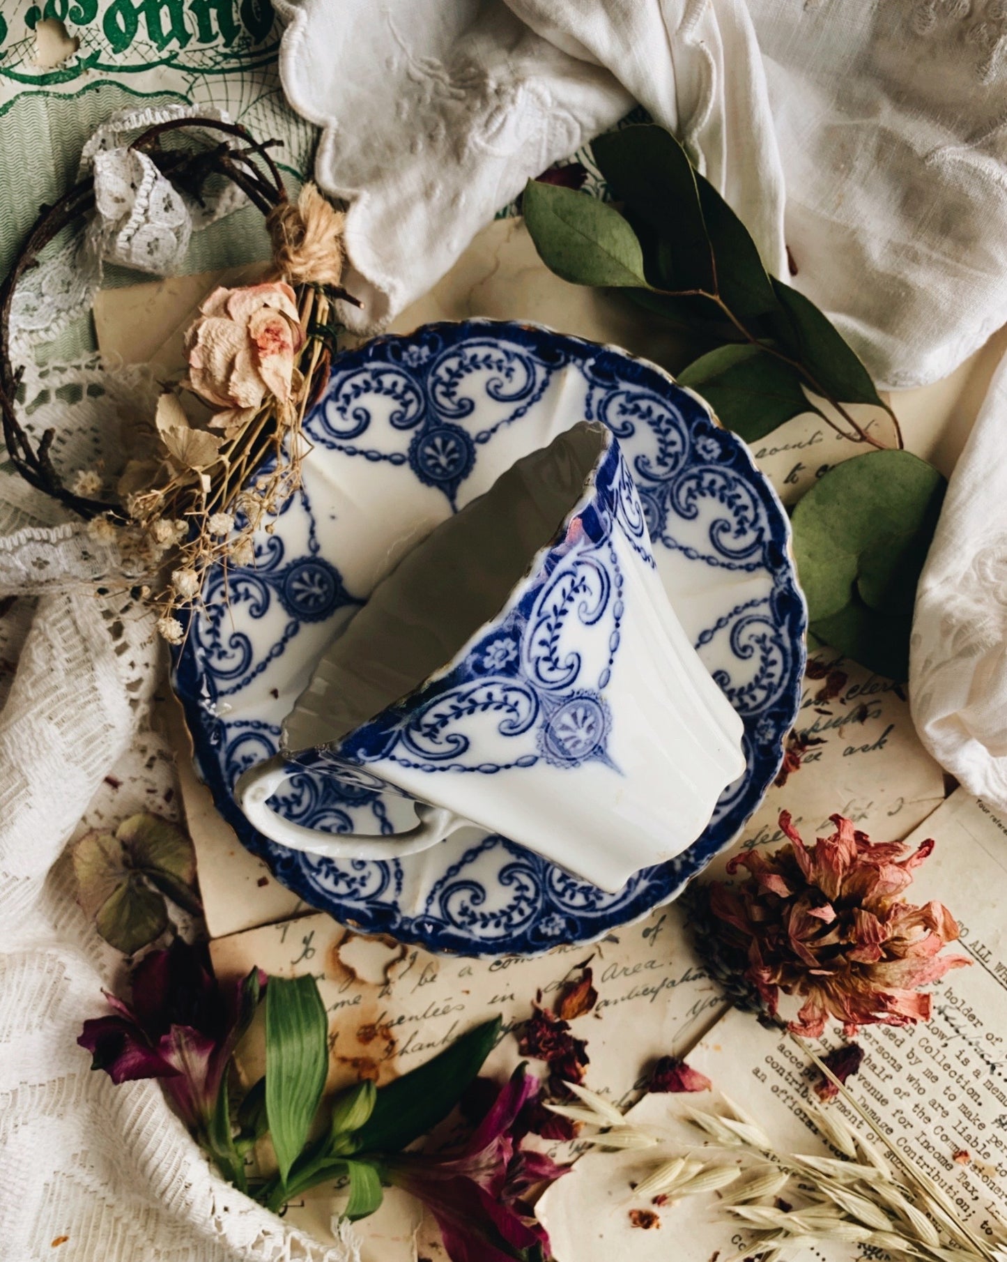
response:
<path fill-rule="evenodd" d="M 186 334 L 188 386 L 223 409 L 211 425 L 233 430 L 268 395 L 286 403 L 304 333 L 294 290 L 281 280 L 215 289 Z"/>

